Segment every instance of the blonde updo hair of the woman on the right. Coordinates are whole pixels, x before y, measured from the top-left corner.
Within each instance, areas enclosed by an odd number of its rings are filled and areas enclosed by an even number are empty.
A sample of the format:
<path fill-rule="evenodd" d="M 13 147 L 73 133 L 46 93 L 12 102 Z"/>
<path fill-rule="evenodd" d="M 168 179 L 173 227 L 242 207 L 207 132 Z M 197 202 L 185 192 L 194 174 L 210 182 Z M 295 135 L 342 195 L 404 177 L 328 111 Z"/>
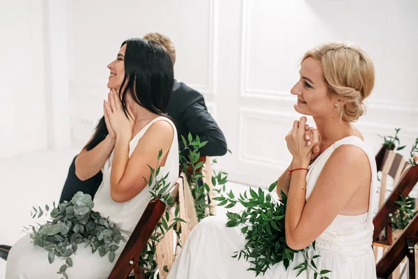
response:
<path fill-rule="evenodd" d="M 375 69 L 366 52 L 348 43 L 325 43 L 302 58 L 318 59 L 328 86 L 328 95 L 344 102 L 340 117 L 354 122 L 366 113 L 363 101 L 373 89 Z"/>

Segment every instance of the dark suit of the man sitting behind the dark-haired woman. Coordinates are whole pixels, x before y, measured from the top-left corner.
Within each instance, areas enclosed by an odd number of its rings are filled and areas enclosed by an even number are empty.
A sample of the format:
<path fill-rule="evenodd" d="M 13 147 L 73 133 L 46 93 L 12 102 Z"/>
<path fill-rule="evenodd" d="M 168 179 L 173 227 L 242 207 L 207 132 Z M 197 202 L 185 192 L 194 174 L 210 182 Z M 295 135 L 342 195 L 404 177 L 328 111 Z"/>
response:
<path fill-rule="evenodd" d="M 201 93 L 183 82 L 175 81 L 171 100 L 167 107 L 167 114 L 176 123 L 180 149 L 184 149 L 181 135 L 187 139 L 187 135 L 192 133 L 193 137 L 199 135 L 201 142 L 208 141 L 206 146 L 200 149 L 201 156 L 222 156 L 226 154 L 227 147 L 224 134 L 208 112 L 205 99 Z M 70 169 L 68 169 L 68 176 L 59 202 L 61 203 L 64 200 L 69 202 L 78 191 L 94 197 L 100 183 L 102 183 L 102 172 L 86 181 L 81 181 L 75 174 L 74 158 Z"/>

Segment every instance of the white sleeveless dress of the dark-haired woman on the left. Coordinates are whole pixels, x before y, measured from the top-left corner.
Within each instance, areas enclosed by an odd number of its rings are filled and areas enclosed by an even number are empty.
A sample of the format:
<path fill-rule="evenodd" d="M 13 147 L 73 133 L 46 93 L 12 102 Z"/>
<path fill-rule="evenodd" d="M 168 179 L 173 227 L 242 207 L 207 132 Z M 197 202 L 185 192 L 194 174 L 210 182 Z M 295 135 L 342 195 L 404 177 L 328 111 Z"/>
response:
<path fill-rule="evenodd" d="M 147 126 L 135 135 L 130 141 L 129 156 L 132 155 L 139 140 L 151 124 L 161 120 L 171 123 L 174 129 L 174 135 L 169 155 L 167 156 L 164 167 L 160 169 L 159 177 L 163 177 L 169 173 L 166 181 L 173 184 L 178 179 L 178 140 L 176 126 L 166 117 L 159 116 L 153 119 L 153 121 L 148 123 Z M 157 155 L 155 154 L 155 157 Z M 146 186 L 141 193 L 127 202 L 114 202 L 110 196 L 110 174 L 113 156 L 114 154 L 112 152 L 102 168 L 103 181 L 93 200 L 93 211 L 98 211 L 103 217 L 109 216 L 116 227 L 121 229 L 123 235 L 130 236 L 150 201 L 150 186 Z M 118 257 L 121 255 L 125 244 L 123 241 L 119 244 L 119 249 L 116 251 L 116 259 L 113 263 L 109 262 L 108 254 L 100 257 L 97 251 L 94 254 L 91 253 L 90 246 L 84 248 L 84 245 L 79 245 L 76 255 L 71 257 L 73 266 L 68 268 L 66 273 L 70 279 L 107 278 L 114 264 L 116 264 Z M 47 255 L 48 252 L 45 249 L 33 246 L 29 235 L 24 236 L 10 250 L 6 265 L 6 279 L 61 278 L 61 275 L 57 274 L 57 271 L 59 271 L 64 261 L 59 259 L 59 257 L 55 257 L 54 262 L 49 264 Z"/>

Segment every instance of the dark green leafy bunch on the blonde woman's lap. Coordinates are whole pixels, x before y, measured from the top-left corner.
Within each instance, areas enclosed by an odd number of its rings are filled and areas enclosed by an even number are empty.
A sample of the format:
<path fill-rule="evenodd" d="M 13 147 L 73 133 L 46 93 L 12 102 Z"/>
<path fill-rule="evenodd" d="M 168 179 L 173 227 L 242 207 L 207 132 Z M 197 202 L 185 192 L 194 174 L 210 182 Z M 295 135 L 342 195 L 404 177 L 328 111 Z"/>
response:
<path fill-rule="evenodd" d="M 228 195 L 215 197 L 219 201 L 218 206 L 225 206 L 229 209 L 236 204 L 242 204 L 244 210 L 240 213 L 226 213 L 229 221 L 226 227 L 241 226 L 242 234 L 245 234 L 246 243 L 244 248 L 236 251 L 233 257 L 238 257 L 238 260 L 243 257 L 247 262 L 251 263 L 249 271 L 255 271 L 256 276 L 265 273 L 274 264 L 283 262 L 286 269 L 294 260 L 296 253 L 301 252 L 304 256 L 304 262 L 300 263 L 294 268 L 298 270 L 297 276 L 303 271 L 311 269 L 314 271 L 314 278 L 329 279 L 325 274 L 331 271 L 319 271 L 315 265 L 315 259 L 320 257 L 314 255 L 309 257 L 308 250 L 293 250 L 286 244 L 286 234 L 284 230 L 284 216 L 286 213 L 286 195 L 281 192 L 281 201 L 274 199 L 270 192 L 274 190 L 277 182 L 274 181 L 268 188 L 269 193 L 265 193 L 261 188 L 258 191 L 249 189 L 249 195 L 245 191 L 244 195 L 235 197 L 232 192 Z M 315 242 L 312 243 L 312 248 L 315 250 Z"/>

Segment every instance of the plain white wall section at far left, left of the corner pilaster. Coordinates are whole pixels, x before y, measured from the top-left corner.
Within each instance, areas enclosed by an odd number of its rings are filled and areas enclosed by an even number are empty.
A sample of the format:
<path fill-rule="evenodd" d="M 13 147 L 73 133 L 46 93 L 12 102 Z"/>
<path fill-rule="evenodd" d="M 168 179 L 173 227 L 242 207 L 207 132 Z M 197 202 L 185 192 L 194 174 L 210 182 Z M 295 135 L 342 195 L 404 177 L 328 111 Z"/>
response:
<path fill-rule="evenodd" d="M 42 1 L 1 1 L 0 158 L 46 148 Z"/>

